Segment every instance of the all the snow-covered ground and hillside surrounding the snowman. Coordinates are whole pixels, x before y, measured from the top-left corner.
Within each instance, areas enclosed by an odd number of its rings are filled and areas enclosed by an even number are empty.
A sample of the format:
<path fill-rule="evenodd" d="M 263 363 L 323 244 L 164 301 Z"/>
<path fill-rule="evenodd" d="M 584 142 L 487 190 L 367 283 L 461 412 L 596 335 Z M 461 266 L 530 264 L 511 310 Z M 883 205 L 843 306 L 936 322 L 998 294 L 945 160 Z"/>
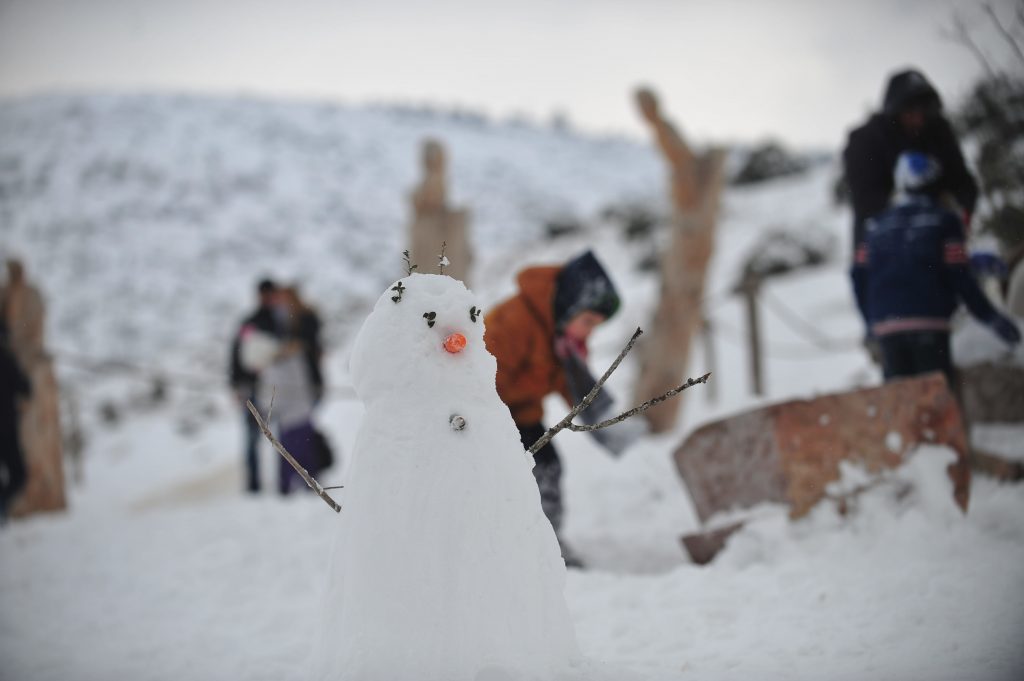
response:
<path fill-rule="evenodd" d="M 484 306 L 528 262 L 592 247 L 608 265 L 626 304 L 595 336 L 602 369 L 656 291 L 636 267 L 653 246 L 600 217 L 616 202 L 660 201 L 659 161 L 644 145 L 310 104 L 0 104 L 0 247 L 26 258 L 52 301 L 53 346 L 171 380 L 170 400 L 150 405 L 137 374 L 60 365 L 88 434 L 83 480 L 68 513 L 0 531 L 0 678 L 305 678 L 336 516 L 311 495 L 240 494 L 243 417 L 217 387 L 226 338 L 256 275 L 301 275 L 332 330 L 333 390 L 317 418 L 342 459 L 351 452 L 362 407 L 347 388 L 348 342 L 399 272 L 404 196 L 428 133 L 450 142 L 453 190 L 474 213 Z M 694 426 L 879 380 L 857 348 L 848 215 L 828 203 L 831 179 L 819 166 L 726 195 L 708 291 L 716 366 L 699 348 L 691 363 L 693 374 L 714 369 L 714 401 L 707 387 L 687 393 L 676 432 L 621 460 L 585 435 L 556 440 L 566 536 L 590 565 L 569 572 L 566 593 L 589 678 L 1024 677 L 1024 488 L 977 477 L 962 516 L 941 450 L 921 452 L 845 517 L 822 505 L 791 523 L 782 509 L 755 509 L 706 567 L 680 547 L 698 523 L 671 453 Z M 541 238 L 545 220 L 566 215 L 587 229 Z M 766 309 L 767 395 L 754 398 L 743 310 L 728 291 L 780 226 L 835 239 L 831 262 L 768 287 L 824 338 Z M 628 360 L 609 382 L 624 405 L 634 372 Z M 96 416 L 105 402 L 117 423 Z M 549 420 L 566 409 L 547 408 Z M 992 437 L 1024 454 L 1020 434 Z M 267 479 L 276 465 L 265 451 Z M 343 482 L 344 466 L 325 477 Z"/>

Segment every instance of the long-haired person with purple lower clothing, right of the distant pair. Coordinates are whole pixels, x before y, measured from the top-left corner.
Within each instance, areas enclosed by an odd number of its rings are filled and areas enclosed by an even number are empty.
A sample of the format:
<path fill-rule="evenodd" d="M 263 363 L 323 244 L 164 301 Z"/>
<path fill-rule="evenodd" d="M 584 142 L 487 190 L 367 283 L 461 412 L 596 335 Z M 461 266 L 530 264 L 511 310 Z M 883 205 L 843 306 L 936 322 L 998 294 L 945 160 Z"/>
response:
<path fill-rule="evenodd" d="M 323 394 L 319 372 L 319 320 L 294 287 L 280 289 L 275 301 L 280 344 L 260 374 L 260 403 L 273 409 L 279 439 L 310 475 L 321 468 L 319 438 L 313 427 L 313 409 Z M 246 343 L 243 341 L 243 354 Z M 278 491 L 288 495 L 305 481 L 284 458 L 279 461 Z"/>

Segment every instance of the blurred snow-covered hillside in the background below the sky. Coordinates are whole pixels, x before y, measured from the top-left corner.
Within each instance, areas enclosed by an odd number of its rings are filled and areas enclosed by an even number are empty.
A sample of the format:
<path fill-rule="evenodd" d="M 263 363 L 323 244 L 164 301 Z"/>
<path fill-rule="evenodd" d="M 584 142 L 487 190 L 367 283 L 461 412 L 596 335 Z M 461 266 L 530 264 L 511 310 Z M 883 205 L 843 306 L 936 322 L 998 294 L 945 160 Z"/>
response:
<path fill-rule="evenodd" d="M 548 220 L 656 201 L 643 145 L 429 111 L 156 95 L 0 102 L 0 251 L 51 302 L 53 345 L 221 371 L 257 276 L 298 280 L 329 329 L 400 272 L 419 145 L 488 256 Z M 216 342 L 213 342 L 216 341 Z"/>

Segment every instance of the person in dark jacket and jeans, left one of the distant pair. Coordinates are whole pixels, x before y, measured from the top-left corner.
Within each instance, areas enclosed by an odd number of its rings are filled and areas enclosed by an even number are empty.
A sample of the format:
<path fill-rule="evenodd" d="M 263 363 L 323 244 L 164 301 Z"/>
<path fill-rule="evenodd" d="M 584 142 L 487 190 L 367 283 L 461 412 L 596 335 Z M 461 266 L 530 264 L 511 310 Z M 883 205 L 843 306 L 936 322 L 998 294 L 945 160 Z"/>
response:
<path fill-rule="evenodd" d="M 264 405 L 259 402 L 259 381 L 262 370 L 269 365 L 275 345 L 270 352 L 254 352 L 257 339 L 269 339 L 274 341 L 281 336 L 280 324 L 274 313 L 274 304 L 278 301 L 278 286 L 271 280 L 264 279 L 257 285 L 257 295 L 259 303 L 256 309 L 250 313 L 241 325 L 231 341 L 230 363 L 228 369 L 228 382 L 234 397 L 242 406 L 242 418 L 245 423 L 246 433 L 246 490 L 250 493 L 260 491 L 259 475 L 259 437 L 260 430 L 253 419 L 252 414 L 246 407 L 246 400 L 252 400 L 254 405 L 264 411 Z M 263 356 L 243 357 L 243 341 L 248 341 L 247 354 Z M 272 343 L 271 343 L 272 344 Z M 264 343 L 266 345 L 266 343 Z M 269 355 L 269 356 L 268 356 Z M 244 360 L 245 359 L 245 360 Z"/>

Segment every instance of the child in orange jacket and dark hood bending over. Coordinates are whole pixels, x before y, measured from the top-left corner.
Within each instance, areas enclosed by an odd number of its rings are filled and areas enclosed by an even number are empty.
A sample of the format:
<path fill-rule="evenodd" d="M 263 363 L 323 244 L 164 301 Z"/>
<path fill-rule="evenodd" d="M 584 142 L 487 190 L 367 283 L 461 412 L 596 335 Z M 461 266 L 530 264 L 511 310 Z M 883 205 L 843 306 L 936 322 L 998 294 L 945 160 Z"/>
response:
<path fill-rule="evenodd" d="M 590 251 L 563 266 L 528 267 L 517 276 L 518 293 L 485 317 L 484 342 L 498 361 L 498 395 L 508 406 L 524 448 L 546 432 L 544 398 L 558 393 L 571 408 L 595 384 L 587 369 L 587 341 L 618 309 L 615 288 Z M 602 390 L 581 418 L 596 423 L 611 399 Z M 642 423 L 642 421 L 640 421 Z M 592 431 L 612 454 L 639 437 L 635 422 Z M 643 426 L 640 426 L 642 429 Z M 561 461 L 552 442 L 534 457 L 534 475 L 544 513 L 551 521 L 570 567 L 582 562 L 561 538 Z"/>

